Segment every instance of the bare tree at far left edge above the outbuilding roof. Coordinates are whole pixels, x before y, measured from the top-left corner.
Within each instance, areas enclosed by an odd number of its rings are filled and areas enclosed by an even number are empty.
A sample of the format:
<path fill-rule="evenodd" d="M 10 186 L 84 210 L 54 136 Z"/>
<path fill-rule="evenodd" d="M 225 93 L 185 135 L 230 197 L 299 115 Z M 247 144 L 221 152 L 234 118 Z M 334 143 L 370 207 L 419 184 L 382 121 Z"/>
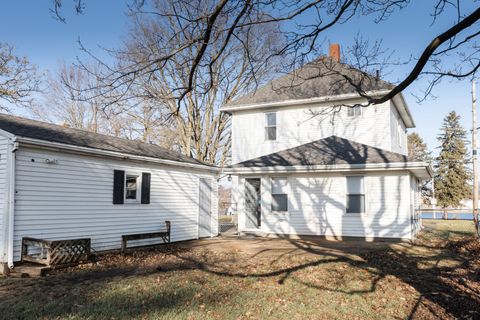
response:
<path fill-rule="evenodd" d="M 13 105 L 29 105 L 32 94 L 40 91 L 35 66 L 27 58 L 18 57 L 13 47 L 0 42 L 0 99 Z M 8 107 L 0 104 L 0 109 Z"/>

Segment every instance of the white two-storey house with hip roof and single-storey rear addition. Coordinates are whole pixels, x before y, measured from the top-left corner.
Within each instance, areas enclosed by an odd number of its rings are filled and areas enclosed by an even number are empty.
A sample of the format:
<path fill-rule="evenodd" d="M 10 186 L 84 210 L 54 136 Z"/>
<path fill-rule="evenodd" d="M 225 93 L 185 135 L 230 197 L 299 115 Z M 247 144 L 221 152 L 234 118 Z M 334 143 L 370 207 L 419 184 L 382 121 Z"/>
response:
<path fill-rule="evenodd" d="M 240 232 L 415 237 L 419 181 L 432 171 L 407 158 L 408 106 L 399 94 L 346 107 L 365 99 L 342 75 L 372 96 L 392 87 L 324 57 L 222 107 L 232 119 L 226 173 Z"/>

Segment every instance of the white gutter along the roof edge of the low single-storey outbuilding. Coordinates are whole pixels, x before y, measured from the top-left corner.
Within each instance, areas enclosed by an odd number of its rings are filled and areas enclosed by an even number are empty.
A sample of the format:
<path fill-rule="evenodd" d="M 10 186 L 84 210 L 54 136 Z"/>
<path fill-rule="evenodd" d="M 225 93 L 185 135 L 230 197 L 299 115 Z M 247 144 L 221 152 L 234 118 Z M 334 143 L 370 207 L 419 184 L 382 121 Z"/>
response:
<path fill-rule="evenodd" d="M 70 144 L 51 142 L 51 141 L 45 141 L 45 140 L 39 140 L 39 139 L 17 137 L 17 141 L 20 142 L 21 144 L 39 146 L 44 148 L 56 149 L 56 150 L 69 150 L 69 151 L 86 153 L 86 154 L 94 154 L 94 155 L 104 156 L 104 157 L 120 158 L 123 160 L 144 161 L 144 162 L 158 163 L 158 164 L 163 164 L 168 166 L 211 171 L 214 173 L 220 172 L 220 168 L 208 166 L 208 165 L 186 163 L 186 162 L 158 159 L 158 158 L 145 157 L 145 156 L 137 156 L 137 155 L 127 154 L 127 153 L 80 147 L 80 146 L 74 146 Z"/>

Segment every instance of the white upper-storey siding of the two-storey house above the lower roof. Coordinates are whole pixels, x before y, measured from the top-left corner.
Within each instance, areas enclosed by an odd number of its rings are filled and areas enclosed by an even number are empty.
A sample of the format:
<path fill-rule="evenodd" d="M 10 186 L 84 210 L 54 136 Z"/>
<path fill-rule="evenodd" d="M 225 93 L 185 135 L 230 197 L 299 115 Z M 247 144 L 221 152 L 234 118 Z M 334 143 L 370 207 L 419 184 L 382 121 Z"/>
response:
<path fill-rule="evenodd" d="M 356 101 L 361 102 L 361 101 Z M 353 103 L 353 102 L 350 102 Z M 328 105 L 304 105 L 269 109 L 277 111 L 277 140 L 265 140 L 267 110 L 237 111 L 232 116 L 232 163 L 336 135 L 389 151 L 406 153 L 406 147 L 393 145 L 394 110 L 389 101 L 362 109 L 359 117 L 348 117 L 343 108 L 335 117 L 316 116 L 310 110 L 326 110 Z M 397 120 L 398 121 L 398 120 Z M 403 126 L 405 128 L 405 126 Z"/>

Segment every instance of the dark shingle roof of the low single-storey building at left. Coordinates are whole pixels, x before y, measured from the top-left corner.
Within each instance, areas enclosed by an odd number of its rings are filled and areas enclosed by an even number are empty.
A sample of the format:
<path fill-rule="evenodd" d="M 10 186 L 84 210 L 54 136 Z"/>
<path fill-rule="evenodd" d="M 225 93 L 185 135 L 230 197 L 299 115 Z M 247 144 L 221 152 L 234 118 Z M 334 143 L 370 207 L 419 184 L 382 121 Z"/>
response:
<path fill-rule="evenodd" d="M 58 126 L 46 122 L 35 121 L 6 114 L 0 114 L 0 129 L 17 137 L 57 142 L 79 147 L 120 152 L 156 159 L 205 165 L 205 163 L 201 161 L 176 152 L 172 152 L 155 144 L 149 144 L 137 140 L 116 138 L 85 130 Z"/>

